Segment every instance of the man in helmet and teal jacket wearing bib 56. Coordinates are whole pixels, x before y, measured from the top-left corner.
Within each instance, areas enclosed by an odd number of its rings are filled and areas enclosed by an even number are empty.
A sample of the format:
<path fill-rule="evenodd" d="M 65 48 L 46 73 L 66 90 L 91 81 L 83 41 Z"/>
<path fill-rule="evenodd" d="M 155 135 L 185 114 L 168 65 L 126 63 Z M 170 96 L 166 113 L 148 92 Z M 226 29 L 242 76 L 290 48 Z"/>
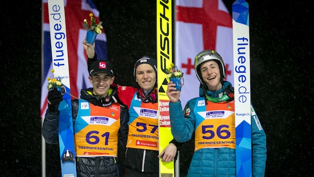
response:
<path fill-rule="evenodd" d="M 180 91 L 168 83 L 171 133 L 186 142 L 195 132 L 195 149 L 188 177 L 236 177 L 234 90 L 223 81 L 226 67 L 221 56 L 204 50 L 194 60 L 200 81 L 199 96 L 190 99 L 182 111 Z M 266 135 L 251 105 L 252 177 L 264 177 Z M 254 115 L 254 116 L 253 116 Z"/>

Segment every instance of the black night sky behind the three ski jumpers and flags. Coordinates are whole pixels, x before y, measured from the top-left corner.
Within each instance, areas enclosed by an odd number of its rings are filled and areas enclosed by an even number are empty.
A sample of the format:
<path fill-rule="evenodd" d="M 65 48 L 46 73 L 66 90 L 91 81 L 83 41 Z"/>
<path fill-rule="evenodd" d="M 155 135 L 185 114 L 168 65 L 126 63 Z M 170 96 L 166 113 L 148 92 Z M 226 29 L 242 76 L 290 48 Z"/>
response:
<path fill-rule="evenodd" d="M 95 0 L 107 21 L 108 58 L 117 82 L 131 85 L 135 61 L 156 56 L 156 1 Z M 228 9 L 233 0 L 224 0 Z M 1 5 L 3 177 L 41 176 L 41 1 Z M 310 0 L 248 0 L 252 102 L 267 134 L 266 177 L 310 177 L 314 167 L 314 20 Z M 311 7 L 311 8 L 310 8 Z M 128 71 L 128 72 L 125 72 Z M 60 174 L 58 146 L 47 145 L 47 177 Z M 180 174 L 191 153 L 181 151 Z"/>

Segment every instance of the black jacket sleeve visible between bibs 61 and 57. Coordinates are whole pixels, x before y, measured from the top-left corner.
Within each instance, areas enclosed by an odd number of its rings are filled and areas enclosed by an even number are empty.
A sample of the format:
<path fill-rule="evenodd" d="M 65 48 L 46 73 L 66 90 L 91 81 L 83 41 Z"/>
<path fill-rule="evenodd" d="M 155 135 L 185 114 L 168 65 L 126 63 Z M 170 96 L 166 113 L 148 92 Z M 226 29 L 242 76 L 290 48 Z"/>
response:
<path fill-rule="evenodd" d="M 126 148 L 128 141 L 128 133 L 129 133 L 129 122 L 130 115 L 128 109 L 125 106 L 121 105 L 120 111 L 120 129 L 119 129 L 119 144 Z"/>

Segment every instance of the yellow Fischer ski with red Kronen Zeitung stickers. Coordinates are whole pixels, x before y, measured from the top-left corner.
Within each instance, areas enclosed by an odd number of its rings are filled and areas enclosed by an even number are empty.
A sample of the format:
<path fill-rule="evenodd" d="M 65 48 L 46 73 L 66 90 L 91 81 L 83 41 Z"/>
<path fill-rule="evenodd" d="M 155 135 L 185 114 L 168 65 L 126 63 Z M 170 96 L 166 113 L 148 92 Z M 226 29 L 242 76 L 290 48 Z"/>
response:
<path fill-rule="evenodd" d="M 166 94 L 165 70 L 173 63 L 172 0 L 157 0 L 157 81 L 158 81 L 158 145 L 159 154 L 173 139 L 169 119 L 169 98 Z M 159 177 L 174 177 L 174 162 L 159 159 Z"/>

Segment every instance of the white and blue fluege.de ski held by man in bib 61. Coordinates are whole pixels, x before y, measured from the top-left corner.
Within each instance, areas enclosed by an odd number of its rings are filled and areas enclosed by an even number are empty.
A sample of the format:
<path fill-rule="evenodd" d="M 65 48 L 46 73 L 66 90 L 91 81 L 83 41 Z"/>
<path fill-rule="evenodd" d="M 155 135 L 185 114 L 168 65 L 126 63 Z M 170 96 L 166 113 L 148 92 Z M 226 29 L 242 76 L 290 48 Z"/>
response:
<path fill-rule="evenodd" d="M 60 77 L 63 101 L 59 105 L 59 149 L 62 177 L 76 177 L 70 76 L 63 0 L 48 0 L 51 54 L 54 75 Z"/>

